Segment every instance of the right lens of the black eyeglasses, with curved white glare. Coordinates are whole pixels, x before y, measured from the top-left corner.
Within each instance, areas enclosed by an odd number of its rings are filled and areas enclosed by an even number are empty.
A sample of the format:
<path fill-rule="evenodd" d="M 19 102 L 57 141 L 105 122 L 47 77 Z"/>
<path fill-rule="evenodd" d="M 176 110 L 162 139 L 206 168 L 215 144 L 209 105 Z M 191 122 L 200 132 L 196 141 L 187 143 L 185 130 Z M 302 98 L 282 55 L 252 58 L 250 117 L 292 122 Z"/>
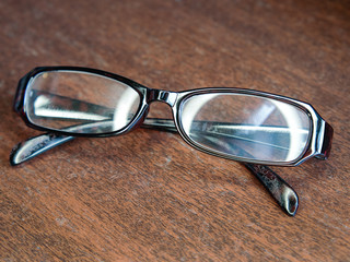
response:
<path fill-rule="evenodd" d="M 179 121 L 200 148 L 271 164 L 300 158 L 311 134 L 310 117 L 296 105 L 240 93 L 192 95 L 182 103 Z"/>

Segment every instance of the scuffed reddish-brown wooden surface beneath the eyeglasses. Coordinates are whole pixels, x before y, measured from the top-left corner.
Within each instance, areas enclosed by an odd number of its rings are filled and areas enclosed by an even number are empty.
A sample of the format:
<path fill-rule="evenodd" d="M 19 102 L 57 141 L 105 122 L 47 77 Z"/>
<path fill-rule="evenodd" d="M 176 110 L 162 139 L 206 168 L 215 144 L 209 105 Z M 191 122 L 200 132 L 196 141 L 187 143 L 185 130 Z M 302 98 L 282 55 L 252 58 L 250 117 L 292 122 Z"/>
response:
<path fill-rule="evenodd" d="M 350 261 L 349 1 L 2 0 L 0 47 L 1 261 Z M 11 167 L 39 133 L 12 112 L 18 80 L 58 64 L 308 102 L 335 129 L 331 157 L 273 168 L 299 193 L 295 217 L 242 164 L 164 132 L 79 139 Z"/>

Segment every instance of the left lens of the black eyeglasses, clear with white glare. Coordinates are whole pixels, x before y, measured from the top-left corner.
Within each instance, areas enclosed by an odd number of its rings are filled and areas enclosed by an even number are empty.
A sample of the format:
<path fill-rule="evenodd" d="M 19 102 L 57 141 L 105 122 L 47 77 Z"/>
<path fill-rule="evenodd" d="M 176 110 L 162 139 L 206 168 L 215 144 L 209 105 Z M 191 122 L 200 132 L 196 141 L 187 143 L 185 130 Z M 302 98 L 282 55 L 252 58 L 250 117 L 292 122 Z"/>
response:
<path fill-rule="evenodd" d="M 34 124 L 59 131 L 100 134 L 126 128 L 138 112 L 140 95 L 103 75 L 48 71 L 28 83 L 25 110 Z"/>

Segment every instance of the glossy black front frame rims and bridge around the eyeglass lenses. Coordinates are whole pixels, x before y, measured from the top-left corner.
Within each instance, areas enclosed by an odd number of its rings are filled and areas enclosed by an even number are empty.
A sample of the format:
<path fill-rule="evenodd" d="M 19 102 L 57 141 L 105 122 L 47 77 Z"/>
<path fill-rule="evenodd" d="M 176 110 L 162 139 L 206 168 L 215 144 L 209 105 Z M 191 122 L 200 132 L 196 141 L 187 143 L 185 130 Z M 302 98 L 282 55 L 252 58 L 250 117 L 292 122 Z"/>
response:
<path fill-rule="evenodd" d="M 96 75 L 102 75 L 105 78 L 109 78 L 116 81 L 119 81 L 131 88 L 133 88 L 140 95 L 141 102 L 139 109 L 133 117 L 133 119 L 122 129 L 107 132 L 107 133 L 97 133 L 97 134 L 88 134 L 88 133 L 75 133 L 75 132 L 67 132 L 62 130 L 56 130 L 50 128 L 45 128 L 42 126 L 37 126 L 33 123 L 26 115 L 26 90 L 31 84 L 33 78 L 43 72 L 50 71 L 73 71 L 73 72 L 82 72 L 82 73 L 92 73 Z M 293 105 L 301 110 L 305 111 L 311 121 L 311 132 L 308 135 L 307 145 L 305 146 L 304 152 L 292 162 L 267 162 L 267 160 L 252 160 L 244 157 L 235 157 L 225 153 L 217 152 L 213 150 L 208 150 L 206 146 L 202 146 L 195 141 L 192 141 L 184 131 L 182 126 L 180 116 L 182 116 L 182 106 L 183 104 L 191 96 L 199 94 L 213 94 L 213 93 L 228 93 L 228 94 L 246 94 L 257 97 L 271 98 L 275 100 L 280 100 Z M 192 147 L 208 153 L 210 155 L 238 160 L 254 164 L 262 164 L 262 165 L 283 165 L 283 166 L 296 166 L 304 160 L 311 157 L 317 157 L 320 159 L 326 159 L 329 156 L 331 138 L 332 138 L 332 128 L 317 114 L 317 111 L 307 103 L 300 102 L 293 98 L 289 98 L 285 96 L 275 95 L 270 93 L 254 91 L 254 90 L 245 90 L 245 88 L 235 88 L 235 87 L 208 87 L 208 88 L 197 88 L 189 90 L 183 92 L 171 92 L 164 90 L 155 90 L 150 88 L 144 85 L 141 85 L 130 79 L 124 78 L 118 74 L 109 73 L 106 71 L 91 69 L 91 68 L 82 68 L 82 67 L 39 67 L 35 68 L 26 75 L 24 75 L 18 86 L 15 100 L 14 100 L 14 110 L 19 112 L 30 128 L 48 131 L 62 135 L 71 135 L 71 136 L 88 136 L 88 138 L 104 138 L 112 135 L 125 134 L 138 127 L 140 127 L 149 111 L 149 106 L 153 102 L 163 102 L 172 107 L 173 119 L 175 127 L 180 134 L 180 136 Z"/>

